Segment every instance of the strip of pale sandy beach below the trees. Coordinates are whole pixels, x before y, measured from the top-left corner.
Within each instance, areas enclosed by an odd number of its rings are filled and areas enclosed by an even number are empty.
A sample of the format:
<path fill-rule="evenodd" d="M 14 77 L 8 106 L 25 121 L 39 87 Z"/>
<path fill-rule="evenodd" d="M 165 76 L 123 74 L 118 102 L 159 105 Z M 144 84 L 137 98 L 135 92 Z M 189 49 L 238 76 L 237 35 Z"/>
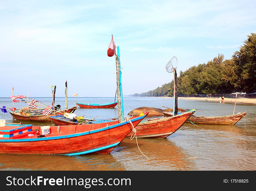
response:
<path fill-rule="evenodd" d="M 171 98 L 171 97 L 168 97 Z M 203 100 L 203 101 L 220 101 L 218 97 L 178 97 L 178 99 Z M 235 102 L 235 98 L 224 98 L 224 102 Z M 256 104 L 255 98 L 237 98 L 237 103 Z"/>

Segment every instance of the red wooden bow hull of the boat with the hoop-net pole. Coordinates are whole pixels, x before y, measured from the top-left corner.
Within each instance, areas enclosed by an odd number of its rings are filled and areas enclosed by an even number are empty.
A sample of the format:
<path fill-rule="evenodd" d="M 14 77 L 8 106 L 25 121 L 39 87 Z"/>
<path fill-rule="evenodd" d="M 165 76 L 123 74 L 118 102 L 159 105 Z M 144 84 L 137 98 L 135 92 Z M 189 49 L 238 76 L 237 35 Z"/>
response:
<path fill-rule="evenodd" d="M 143 121 L 136 126 L 136 136 L 137 138 L 167 138 L 177 131 L 194 112 L 195 110 L 191 110 L 174 117 Z M 127 137 L 132 134 L 133 132 L 129 133 Z"/>

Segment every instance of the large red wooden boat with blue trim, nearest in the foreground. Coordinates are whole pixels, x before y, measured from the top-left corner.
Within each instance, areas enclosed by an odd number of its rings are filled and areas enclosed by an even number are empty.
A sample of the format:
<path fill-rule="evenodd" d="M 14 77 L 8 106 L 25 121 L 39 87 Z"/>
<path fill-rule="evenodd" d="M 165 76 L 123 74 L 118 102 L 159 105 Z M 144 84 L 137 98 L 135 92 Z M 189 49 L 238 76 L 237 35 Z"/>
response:
<path fill-rule="evenodd" d="M 131 118 L 135 127 L 147 115 Z M 82 155 L 110 153 L 132 130 L 128 121 L 42 126 L 6 125 L 0 127 L 0 153 Z M 43 132 L 46 129 L 49 134 Z M 43 130 L 43 132 L 42 132 Z M 36 133 L 40 133 L 40 135 Z"/>

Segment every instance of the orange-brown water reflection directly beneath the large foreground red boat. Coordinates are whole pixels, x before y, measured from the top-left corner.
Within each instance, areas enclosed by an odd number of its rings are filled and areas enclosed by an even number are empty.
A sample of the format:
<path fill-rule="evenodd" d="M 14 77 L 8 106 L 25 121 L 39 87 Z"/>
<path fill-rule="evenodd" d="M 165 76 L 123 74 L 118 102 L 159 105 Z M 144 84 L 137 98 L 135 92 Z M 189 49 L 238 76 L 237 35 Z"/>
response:
<path fill-rule="evenodd" d="M 56 156 L 0 154 L 1 170 L 124 170 L 111 154 Z"/>

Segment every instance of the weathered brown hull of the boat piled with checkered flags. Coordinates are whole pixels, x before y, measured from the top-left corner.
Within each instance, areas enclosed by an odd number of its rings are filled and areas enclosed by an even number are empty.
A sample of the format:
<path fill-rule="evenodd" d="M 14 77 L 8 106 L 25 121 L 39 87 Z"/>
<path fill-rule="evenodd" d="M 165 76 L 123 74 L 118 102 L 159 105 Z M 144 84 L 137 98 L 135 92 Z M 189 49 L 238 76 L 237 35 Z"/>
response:
<path fill-rule="evenodd" d="M 62 110 L 62 112 L 64 113 L 70 113 L 72 111 L 72 113 L 76 110 L 76 107 L 67 109 L 67 110 Z M 24 121 L 32 121 L 32 122 L 51 122 L 51 118 L 50 116 L 53 116 L 54 114 L 50 114 L 48 116 L 45 115 L 21 115 L 20 113 L 17 114 L 15 112 L 9 112 L 13 118 L 15 118 L 16 120 L 24 120 Z M 56 112 L 56 115 L 63 115 L 63 113 L 58 113 Z"/>

